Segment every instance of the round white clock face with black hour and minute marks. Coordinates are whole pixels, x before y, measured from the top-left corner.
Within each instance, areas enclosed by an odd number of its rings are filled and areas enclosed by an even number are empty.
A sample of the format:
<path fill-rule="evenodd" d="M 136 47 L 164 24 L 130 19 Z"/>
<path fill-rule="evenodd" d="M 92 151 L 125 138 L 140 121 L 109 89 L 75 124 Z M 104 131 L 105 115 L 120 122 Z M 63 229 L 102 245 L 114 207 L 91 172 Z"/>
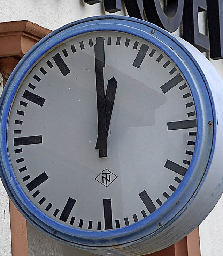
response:
<path fill-rule="evenodd" d="M 162 207 L 189 167 L 196 127 L 192 93 L 170 57 L 140 37 L 97 31 L 33 67 L 15 95 L 7 143 L 40 211 L 106 231 Z"/>

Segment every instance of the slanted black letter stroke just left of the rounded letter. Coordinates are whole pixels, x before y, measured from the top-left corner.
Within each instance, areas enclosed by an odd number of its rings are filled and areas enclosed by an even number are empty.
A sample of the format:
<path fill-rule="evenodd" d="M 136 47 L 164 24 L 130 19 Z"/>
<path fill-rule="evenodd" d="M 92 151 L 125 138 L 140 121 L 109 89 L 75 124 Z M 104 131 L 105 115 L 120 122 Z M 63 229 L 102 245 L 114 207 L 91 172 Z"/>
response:
<path fill-rule="evenodd" d="M 143 0 L 124 0 L 130 17 L 143 20 Z"/>

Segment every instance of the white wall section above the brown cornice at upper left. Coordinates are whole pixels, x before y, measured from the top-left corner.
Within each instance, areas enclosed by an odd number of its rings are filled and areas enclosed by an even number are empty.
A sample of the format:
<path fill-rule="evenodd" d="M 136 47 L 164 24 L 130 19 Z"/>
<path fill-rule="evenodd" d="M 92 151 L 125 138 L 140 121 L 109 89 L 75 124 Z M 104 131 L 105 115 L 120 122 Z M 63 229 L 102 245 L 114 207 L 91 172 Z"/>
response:
<path fill-rule="evenodd" d="M 105 14 L 109 13 L 100 3 L 88 5 L 84 0 L 1 0 L 0 3 L 0 22 L 29 20 L 51 30 L 75 20 Z"/>

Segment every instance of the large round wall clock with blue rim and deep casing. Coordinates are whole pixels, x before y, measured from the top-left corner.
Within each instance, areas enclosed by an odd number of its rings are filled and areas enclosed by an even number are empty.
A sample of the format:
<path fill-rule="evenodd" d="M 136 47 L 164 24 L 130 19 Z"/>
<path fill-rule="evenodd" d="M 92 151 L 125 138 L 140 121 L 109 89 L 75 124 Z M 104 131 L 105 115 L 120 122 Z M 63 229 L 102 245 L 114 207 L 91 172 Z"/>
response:
<path fill-rule="evenodd" d="M 148 22 L 68 24 L 3 91 L 3 184 L 62 242 L 103 255 L 167 247 L 222 194 L 222 85 L 198 50 Z"/>

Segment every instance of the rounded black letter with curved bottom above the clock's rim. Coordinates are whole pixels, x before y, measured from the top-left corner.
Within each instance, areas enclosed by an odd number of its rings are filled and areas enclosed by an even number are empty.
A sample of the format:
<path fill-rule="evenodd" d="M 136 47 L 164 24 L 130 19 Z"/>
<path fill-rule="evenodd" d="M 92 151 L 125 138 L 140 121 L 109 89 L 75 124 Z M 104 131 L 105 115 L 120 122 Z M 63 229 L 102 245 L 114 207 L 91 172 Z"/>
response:
<path fill-rule="evenodd" d="M 144 11 L 149 22 L 174 32 L 178 29 L 183 15 L 183 0 L 168 0 L 164 10 L 160 0 L 143 0 Z"/>

